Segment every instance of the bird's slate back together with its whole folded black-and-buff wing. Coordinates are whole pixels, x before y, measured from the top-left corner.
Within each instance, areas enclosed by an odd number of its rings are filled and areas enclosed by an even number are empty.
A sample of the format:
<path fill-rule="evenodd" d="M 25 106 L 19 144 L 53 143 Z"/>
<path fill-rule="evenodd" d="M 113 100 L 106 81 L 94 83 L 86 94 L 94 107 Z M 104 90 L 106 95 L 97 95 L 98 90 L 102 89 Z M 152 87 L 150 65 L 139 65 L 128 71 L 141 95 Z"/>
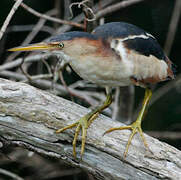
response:
<path fill-rule="evenodd" d="M 95 28 L 92 34 L 105 40 L 111 39 L 111 48 L 125 62 L 131 58 L 135 66 L 135 80 L 153 83 L 174 78 L 173 63 L 157 40 L 143 29 L 125 22 L 112 22 Z"/>

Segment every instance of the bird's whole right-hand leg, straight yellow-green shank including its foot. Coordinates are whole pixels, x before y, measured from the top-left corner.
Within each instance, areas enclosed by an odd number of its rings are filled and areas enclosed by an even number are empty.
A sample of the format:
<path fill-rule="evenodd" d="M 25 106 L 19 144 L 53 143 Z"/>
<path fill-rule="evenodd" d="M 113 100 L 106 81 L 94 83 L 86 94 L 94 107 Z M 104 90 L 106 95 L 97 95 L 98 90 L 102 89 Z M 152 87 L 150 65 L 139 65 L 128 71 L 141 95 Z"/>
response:
<path fill-rule="evenodd" d="M 118 127 L 118 128 L 111 128 L 111 129 L 107 130 L 104 133 L 104 134 L 106 134 L 106 133 L 110 133 L 110 132 L 115 131 L 115 130 L 123 130 L 123 129 L 130 129 L 132 131 L 130 136 L 129 136 L 127 145 L 126 145 L 126 149 L 125 149 L 125 152 L 124 152 L 124 157 L 126 157 L 126 155 L 128 153 L 128 148 L 129 148 L 130 143 L 131 143 L 131 140 L 133 139 L 133 136 L 137 132 L 140 134 L 141 139 L 142 139 L 145 147 L 148 149 L 148 144 L 147 144 L 147 142 L 145 140 L 145 137 L 143 135 L 143 131 L 142 131 L 142 128 L 141 128 L 141 122 L 142 122 L 144 113 L 146 111 L 146 107 L 147 107 L 147 105 L 149 103 L 149 100 L 150 100 L 151 96 L 152 96 L 152 91 L 147 88 L 146 91 L 145 91 L 145 97 L 144 97 L 144 100 L 143 100 L 141 111 L 139 112 L 139 115 L 138 115 L 135 122 L 133 122 L 132 124 L 130 124 L 128 126 L 122 126 L 122 127 Z"/>

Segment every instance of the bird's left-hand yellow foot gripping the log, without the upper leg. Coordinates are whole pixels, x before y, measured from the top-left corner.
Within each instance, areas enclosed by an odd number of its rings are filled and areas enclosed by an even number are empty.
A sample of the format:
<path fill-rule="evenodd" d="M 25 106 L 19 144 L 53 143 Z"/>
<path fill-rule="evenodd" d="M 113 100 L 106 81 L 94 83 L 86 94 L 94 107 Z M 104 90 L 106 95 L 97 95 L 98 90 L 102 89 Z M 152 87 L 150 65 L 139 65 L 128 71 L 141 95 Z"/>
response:
<path fill-rule="evenodd" d="M 72 142 L 73 145 L 73 156 L 74 158 L 76 158 L 76 143 L 77 143 L 77 138 L 78 135 L 81 131 L 82 133 L 82 145 L 81 145 L 81 152 L 80 152 L 80 156 L 82 159 L 82 155 L 84 154 L 84 150 L 85 150 L 85 142 L 86 142 L 86 136 L 87 136 L 87 129 L 90 126 L 90 124 L 92 123 L 92 121 L 99 115 L 99 113 L 88 113 L 86 114 L 84 117 L 80 118 L 77 122 L 70 124 L 64 128 L 58 129 L 56 131 L 56 133 L 61 133 L 67 129 L 71 129 L 73 127 L 76 127 L 75 129 L 75 135 L 74 135 L 74 139 Z"/>

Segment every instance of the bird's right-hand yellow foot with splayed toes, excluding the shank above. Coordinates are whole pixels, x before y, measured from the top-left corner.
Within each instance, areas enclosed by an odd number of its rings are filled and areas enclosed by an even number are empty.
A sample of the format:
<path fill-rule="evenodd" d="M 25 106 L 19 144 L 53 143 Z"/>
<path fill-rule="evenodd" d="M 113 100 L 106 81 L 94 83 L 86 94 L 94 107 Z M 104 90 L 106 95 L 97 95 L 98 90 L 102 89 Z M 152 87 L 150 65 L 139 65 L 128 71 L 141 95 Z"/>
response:
<path fill-rule="evenodd" d="M 130 136 L 129 136 L 127 145 L 126 145 L 126 149 L 124 151 L 124 158 L 126 158 L 126 156 L 127 156 L 129 146 L 130 146 L 131 141 L 132 141 L 132 139 L 133 139 L 133 137 L 134 137 L 134 135 L 136 133 L 140 134 L 141 139 L 142 139 L 145 147 L 149 150 L 148 144 L 147 144 L 146 139 L 145 139 L 145 137 L 143 135 L 143 131 L 142 131 L 142 128 L 141 128 L 141 121 L 140 121 L 139 118 L 134 123 L 132 123 L 131 125 L 121 126 L 121 127 L 118 127 L 118 128 L 111 128 L 111 129 L 107 130 L 104 134 L 110 133 L 110 132 L 115 131 L 115 130 L 124 130 L 124 129 L 130 129 L 132 131 Z"/>

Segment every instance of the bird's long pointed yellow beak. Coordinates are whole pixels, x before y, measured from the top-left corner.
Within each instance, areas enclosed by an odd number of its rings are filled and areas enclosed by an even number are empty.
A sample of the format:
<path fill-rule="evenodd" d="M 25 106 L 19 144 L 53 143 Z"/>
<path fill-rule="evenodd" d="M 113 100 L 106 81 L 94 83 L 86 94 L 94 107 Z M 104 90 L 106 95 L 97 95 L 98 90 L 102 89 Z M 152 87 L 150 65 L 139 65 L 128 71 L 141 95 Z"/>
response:
<path fill-rule="evenodd" d="M 51 44 L 48 43 L 37 43 L 37 44 L 30 44 L 27 46 L 19 46 L 8 49 L 8 51 L 35 51 L 35 50 L 51 50 L 53 47 Z"/>

